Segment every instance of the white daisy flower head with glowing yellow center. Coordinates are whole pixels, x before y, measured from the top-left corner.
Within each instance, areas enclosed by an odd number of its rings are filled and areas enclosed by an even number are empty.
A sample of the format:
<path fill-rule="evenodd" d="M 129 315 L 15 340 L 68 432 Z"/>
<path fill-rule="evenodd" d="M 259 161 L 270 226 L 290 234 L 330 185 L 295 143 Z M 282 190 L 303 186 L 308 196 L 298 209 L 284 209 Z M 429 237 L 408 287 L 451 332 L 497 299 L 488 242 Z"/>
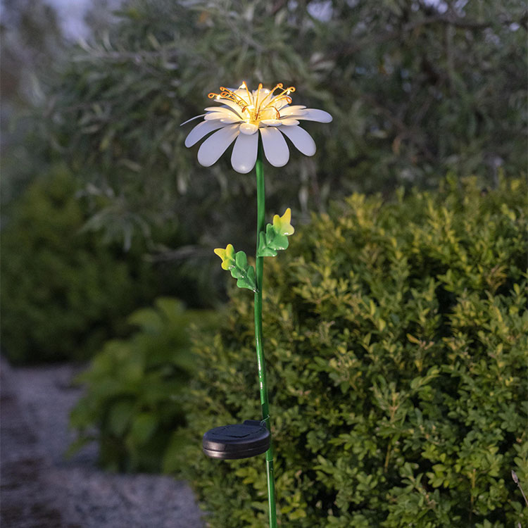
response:
<path fill-rule="evenodd" d="M 277 90 L 279 92 L 275 93 Z M 265 157 L 275 167 L 282 167 L 289 160 L 284 136 L 303 154 L 313 156 L 315 142 L 306 130 L 298 126 L 299 121 L 330 122 L 332 115 L 306 106 L 291 106 L 289 94 L 292 92 L 295 92 L 295 87 L 284 88 L 282 83 L 272 90 L 263 89 L 259 84 L 258 89 L 252 92 L 245 81 L 237 89 L 220 87 L 220 94 L 211 93 L 209 99 L 218 101 L 221 106 L 208 106 L 206 113 L 192 118 L 203 117 L 203 121 L 189 132 L 185 146 L 193 146 L 214 132 L 199 148 L 199 163 L 210 167 L 234 142 L 231 164 L 241 174 L 246 174 L 255 165 L 259 131 Z"/>

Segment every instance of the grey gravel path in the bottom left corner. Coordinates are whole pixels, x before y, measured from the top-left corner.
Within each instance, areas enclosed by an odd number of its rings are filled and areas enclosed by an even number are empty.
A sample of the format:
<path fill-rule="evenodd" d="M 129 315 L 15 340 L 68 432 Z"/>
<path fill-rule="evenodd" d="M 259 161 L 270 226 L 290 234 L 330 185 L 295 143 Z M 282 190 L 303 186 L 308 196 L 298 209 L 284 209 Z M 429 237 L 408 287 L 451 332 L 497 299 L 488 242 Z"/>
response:
<path fill-rule="evenodd" d="M 68 413 L 75 367 L 0 363 L 2 528 L 203 528 L 186 482 L 96 468 L 96 446 L 74 458 Z"/>

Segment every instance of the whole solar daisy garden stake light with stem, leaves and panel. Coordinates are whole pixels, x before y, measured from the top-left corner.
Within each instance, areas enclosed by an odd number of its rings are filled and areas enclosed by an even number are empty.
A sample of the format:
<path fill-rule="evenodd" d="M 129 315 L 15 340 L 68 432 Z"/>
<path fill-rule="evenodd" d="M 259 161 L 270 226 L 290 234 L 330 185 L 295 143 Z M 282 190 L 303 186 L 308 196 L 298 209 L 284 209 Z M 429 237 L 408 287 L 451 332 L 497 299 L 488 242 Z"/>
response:
<path fill-rule="evenodd" d="M 237 279 L 237 286 L 251 289 L 255 294 L 255 342 L 260 382 L 260 405 L 262 421 L 246 420 L 243 424 L 224 425 L 210 429 L 203 435 L 203 452 L 212 458 L 236 459 L 266 453 L 268 470 L 268 503 L 270 528 L 277 527 L 275 510 L 275 479 L 273 476 L 273 447 L 271 442 L 270 408 L 268 385 L 262 339 L 262 291 L 263 258 L 276 256 L 277 251 L 287 249 L 289 235 L 294 233 L 291 226 L 291 210 L 287 208 L 282 216 L 275 215 L 272 223 L 264 226 L 264 170 L 263 155 L 275 167 L 286 165 L 289 149 L 284 136 L 306 156 L 315 153 L 315 142 L 306 130 L 299 127 L 299 121 L 330 122 L 332 115 L 322 110 L 291 105 L 293 86 L 284 88 L 281 83 L 275 88 L 250 91 L 246 82 L 238 88 L 220 87 L 220 93 L 209 94 L 209 99 L 220 106 L 208 106 L 203 118 L 185 139 L 185 146 L 201 144 L 198 161 L 204 167 L 213 165 L 222 153 L 234 142 L 231 165 L 237 172 L 246 174 L 253 167 L 257 177 L 257 244 L 256 268 L 249 265 L 244 251 L 234 251 L 231 244 L 225 249 L 215 249 L 222 259 L 222 268 L 230 270 Z M 185 123 L 189 122 L 186 121 Z M 183 125 L 185 125 L 183 123 Z M 259 134 L 260 132 L 260 134 Z"/>

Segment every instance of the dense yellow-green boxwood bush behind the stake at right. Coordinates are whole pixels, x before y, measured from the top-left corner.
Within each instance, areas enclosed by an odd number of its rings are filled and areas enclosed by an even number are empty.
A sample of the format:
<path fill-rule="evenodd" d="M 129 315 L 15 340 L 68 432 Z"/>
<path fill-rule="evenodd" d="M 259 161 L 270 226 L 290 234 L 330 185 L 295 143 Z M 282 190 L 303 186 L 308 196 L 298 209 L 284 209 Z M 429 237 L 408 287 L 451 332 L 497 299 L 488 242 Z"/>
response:
<path fill-rule="evenodd" d="M 354 194 L 265 261 L 279 522 L 501 528 L 528 522 L 524 182 L 448 178 L 394 201 Z M 252 296 L 196 344 L 191 446 L 174 449 L 212 528 L 268 526 L 263 456 L 201 453 L 260 415 Z"/>

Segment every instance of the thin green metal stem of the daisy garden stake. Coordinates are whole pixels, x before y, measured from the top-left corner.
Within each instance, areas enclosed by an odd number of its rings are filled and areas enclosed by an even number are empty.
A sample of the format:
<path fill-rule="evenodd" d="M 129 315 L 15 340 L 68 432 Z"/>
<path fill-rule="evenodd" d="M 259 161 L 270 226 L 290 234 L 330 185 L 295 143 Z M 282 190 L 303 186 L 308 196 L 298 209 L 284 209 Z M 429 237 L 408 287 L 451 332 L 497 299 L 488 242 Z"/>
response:
<path fill-rule="evenodd" d="M 262 144 L 259 140 L 258 155 L 255 165 L 257 173 L 257 251 L 260 232 L 264 232 L 265 196 L 264 196 L 264 168 Z M 266 364 L 262 344 L 262 290 L 263 290 L 264 258 L 256 257 L 256 286 L 255 293 L 255 345 L 257 350 L 258 380 L 260 382 L 260 405 L 262 419 L 271 434 L 270 404 L 268 402 L 268 382 L 266 381 Z M 273 473 L 273 445 L 266 451 L 266 469 L 268 471 L 268 504 L 270 507 L 270 528 L 277 528 L 277 510 L 275 506 L 275 477 Z"/>

